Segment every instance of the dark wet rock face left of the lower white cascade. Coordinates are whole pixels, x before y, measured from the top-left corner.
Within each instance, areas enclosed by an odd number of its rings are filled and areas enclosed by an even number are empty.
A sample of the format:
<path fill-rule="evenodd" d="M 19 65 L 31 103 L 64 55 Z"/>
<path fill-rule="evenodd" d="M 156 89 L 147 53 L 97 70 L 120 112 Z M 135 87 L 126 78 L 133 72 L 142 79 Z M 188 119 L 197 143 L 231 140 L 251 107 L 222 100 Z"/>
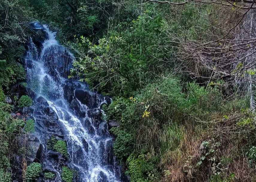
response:
<path fill-rule="evenodd" d="M 42 163 L 44 171 L 61 171 L 63 165 L 68 165 L 67 158 L 47 148 L 47 141 L 52 135 L 64 138 L 63 131 L 58 124 L 58 116 L 41 96 L 35 99 L 34 105 L 23 114 L 36 120 L 36 132 L 24 133 L 18 138 L 19 148 L 26 150 L 26 155 L 20 154 L 15 157 L 14 181 L 22 182 L 24 162 L 27 166 L 32 162 Z M 58 181 L 60 178 L 57 177 L 56 180 Z"/>

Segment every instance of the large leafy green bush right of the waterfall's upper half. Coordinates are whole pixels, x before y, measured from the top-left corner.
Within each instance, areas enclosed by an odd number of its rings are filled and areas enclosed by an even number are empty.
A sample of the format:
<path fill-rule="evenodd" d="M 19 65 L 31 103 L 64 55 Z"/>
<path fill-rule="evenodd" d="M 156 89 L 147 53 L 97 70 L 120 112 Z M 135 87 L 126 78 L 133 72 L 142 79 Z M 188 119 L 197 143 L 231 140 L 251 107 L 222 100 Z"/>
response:
<path fill-rule="evenodd" d="M 112 94 L 128 95 L 145 86 L 155 76 L 151 71 L 158 74 L 162 61 L 170 57 L 165 49 L 157 48 L 166 36 L 165 20 L 152 11 L 145 11 L 128 25 L 120 25 L 121 32 L 110 31 L 109 37 L 100 39 L 98 45 L 84 37 L 77 38 L 77 49 L 89 51 L 82 52 L 82 57 L 75 60 L 72 74 Z"/>

